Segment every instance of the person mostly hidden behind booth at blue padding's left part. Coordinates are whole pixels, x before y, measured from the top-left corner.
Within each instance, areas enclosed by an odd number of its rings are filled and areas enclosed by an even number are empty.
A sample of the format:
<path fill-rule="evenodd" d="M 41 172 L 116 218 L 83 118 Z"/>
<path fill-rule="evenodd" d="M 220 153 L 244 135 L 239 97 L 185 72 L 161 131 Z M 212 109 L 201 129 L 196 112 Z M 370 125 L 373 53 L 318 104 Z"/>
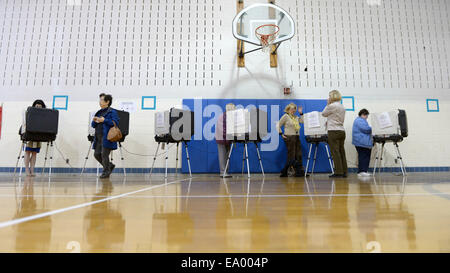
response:
<path fill-rule="evenodd" d="M 219 116 L 216 123 L 215 138 L 219 155 L 220 177 L 222 178 L 231 177 L 231 175 L 228 174 L 228 170 L 225 170 L 231 146 L 231 141 L 227 140 L 227 112 L 235 109 L 236 106 L 234 104 L 228 103 L 225 106 L 225 113 Z"/>

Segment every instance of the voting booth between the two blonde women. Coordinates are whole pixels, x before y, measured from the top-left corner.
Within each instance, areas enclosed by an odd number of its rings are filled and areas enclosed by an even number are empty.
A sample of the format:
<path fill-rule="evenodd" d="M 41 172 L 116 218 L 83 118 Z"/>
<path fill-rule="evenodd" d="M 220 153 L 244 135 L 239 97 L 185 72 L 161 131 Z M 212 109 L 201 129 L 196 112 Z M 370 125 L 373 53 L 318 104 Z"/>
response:
<path fill-rule="evenodd" d="M 311 161 L 311 152 L 313 146 L 314 149 L 314 159 L 311 169 L 311 174 L 314 173 L 314 167 L 316 166 L 317 150 L 320 143 L 323 143 L 327 151 L 328 162 L 330 163 L 331 173 L 334 174 L 333 162 L 331 160 L 330 151 L 328 149 L 328 133 L 326 122 L 327 119 L 322 116 L 321 112 L 313 111 L 303 115 L 305 138 L 309 145 L 308 161 L 306 162 L 305 176 L 308 174 L 309 163 Z"/>

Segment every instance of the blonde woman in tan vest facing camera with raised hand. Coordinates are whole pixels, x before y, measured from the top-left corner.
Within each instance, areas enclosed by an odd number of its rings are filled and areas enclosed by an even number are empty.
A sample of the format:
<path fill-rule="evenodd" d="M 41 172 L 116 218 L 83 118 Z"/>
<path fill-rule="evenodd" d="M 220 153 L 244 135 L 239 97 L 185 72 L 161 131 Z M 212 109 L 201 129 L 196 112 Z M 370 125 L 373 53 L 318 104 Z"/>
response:
<path fill-rule="evenodd" d="M 305 176 L 305 170 L 302 163 L 302 148 L 300 144 L 300 123 L 303 123 L 303 108 L 298 108 L 300 117 L 295 115 L 295 112 L 297 112 L 297 105 L 294 103 L 288 104 L 284 109 L 284 112 L 285 114 L 277 124 L 277 129 L 286 144 L 288 154 L 286 164 L 281 170 L 280 177 L 287 177 L 288 169 L 291 166 L 295 168 L 296 177 L 303 177 Z M 282 132 L 281 127 L 284 127 L 284 133 Z"/>

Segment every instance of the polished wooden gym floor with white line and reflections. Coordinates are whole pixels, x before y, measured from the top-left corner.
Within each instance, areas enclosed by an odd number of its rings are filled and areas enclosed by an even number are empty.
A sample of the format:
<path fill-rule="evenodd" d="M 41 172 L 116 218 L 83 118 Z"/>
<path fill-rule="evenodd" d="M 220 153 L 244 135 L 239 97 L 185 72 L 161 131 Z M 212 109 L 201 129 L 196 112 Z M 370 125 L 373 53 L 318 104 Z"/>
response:
<path fill-rule="evenodd" d="M 0 252 L 450 252 L 450 173 L 0 175 Z"/>

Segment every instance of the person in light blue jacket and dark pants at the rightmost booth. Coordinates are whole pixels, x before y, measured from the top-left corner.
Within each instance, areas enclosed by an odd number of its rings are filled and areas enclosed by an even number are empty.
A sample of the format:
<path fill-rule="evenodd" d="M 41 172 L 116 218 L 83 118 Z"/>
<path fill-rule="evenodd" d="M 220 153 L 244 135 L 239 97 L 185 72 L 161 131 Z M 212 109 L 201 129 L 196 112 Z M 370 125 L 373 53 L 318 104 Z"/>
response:
<path fill-rule="evenodd" d="M 373 140 L 372 128 L 367 122 L 368 117 L 369 111 L 362 109 L 353 122 L 352 144 L 355 145 L 358 152 L 358 176 L 370 176 L 367 171 L 369 170 Z"/>

